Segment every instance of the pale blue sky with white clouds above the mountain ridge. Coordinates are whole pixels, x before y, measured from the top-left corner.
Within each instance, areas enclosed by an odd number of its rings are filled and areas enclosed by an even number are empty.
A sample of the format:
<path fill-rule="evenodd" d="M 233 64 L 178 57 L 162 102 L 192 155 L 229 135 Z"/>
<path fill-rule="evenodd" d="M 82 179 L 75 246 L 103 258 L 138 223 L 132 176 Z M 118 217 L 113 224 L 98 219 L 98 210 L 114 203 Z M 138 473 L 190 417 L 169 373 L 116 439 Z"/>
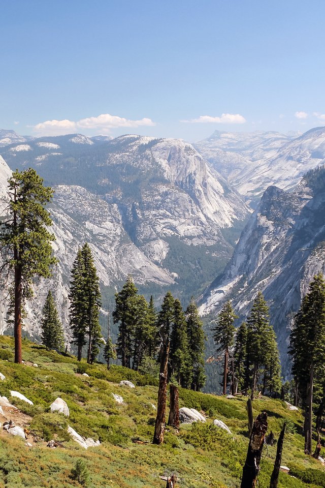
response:
<path fill-rule="evenodd" d="M 325 125 L 323 0 L 0 6 L 0 128 L 197 141 Z"/>

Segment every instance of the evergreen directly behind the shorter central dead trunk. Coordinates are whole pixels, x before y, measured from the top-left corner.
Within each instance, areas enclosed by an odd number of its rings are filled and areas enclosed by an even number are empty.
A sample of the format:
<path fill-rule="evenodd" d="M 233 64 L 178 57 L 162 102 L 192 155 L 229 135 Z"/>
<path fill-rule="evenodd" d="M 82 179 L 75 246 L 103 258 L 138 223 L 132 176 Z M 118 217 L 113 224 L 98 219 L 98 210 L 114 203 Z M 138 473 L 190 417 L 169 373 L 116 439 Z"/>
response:
<path fill-rule="evenodd" d="M 174 375 L 180 386 L 187 388 L 192 381 L 192 364 L 187 340 L 187 324 L 181 302 L 178 299 L 174 301 L 170 341 L 171 374 Z"/>

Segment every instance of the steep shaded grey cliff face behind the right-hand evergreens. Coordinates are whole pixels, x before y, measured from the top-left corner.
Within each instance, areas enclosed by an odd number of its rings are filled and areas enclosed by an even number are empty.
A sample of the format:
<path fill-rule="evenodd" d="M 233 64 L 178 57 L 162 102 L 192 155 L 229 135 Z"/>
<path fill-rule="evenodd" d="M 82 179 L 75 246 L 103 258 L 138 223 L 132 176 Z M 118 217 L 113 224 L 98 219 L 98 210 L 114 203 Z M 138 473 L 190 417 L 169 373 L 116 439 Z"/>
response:
<path fill-rule="evenodd" d="M 325 271 L 325 185 L 315 180 L 316 176 L 304 178 L 290 193 L 267 189 L 200 308 L 202 314 L 215 315 L 225 300 L 232 299 L 243 319 L 261 290 L 270 306 L 284 373 L 289 372 L 290 323 L 313 276 Z"/>

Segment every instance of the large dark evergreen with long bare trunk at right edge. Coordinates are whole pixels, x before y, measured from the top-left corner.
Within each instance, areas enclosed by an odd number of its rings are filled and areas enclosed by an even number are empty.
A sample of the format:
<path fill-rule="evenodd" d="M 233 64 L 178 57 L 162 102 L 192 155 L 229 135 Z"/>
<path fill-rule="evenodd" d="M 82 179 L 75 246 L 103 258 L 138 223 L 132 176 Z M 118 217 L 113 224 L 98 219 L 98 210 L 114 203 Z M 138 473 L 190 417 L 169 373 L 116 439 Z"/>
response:
<path fill-rule="evenodd" d="M 290 334 L 292 373 L 305 409 L 305 452 L 311 454 L 313 392 L 325 364 L 325 282 L 318 273 L 309 285 Z"/>

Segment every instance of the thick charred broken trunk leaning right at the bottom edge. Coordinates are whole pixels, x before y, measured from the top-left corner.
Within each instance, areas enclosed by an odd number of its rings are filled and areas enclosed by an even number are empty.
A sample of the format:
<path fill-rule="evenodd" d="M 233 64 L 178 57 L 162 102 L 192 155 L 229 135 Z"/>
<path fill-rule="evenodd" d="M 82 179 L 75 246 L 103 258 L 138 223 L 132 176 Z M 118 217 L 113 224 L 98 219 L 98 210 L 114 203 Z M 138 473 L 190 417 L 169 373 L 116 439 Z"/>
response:
<path fill-rule="evenodd" d="M 240 488 L 255 488 L 259 473 L 265 433 L 268 429 L 268 416 L 266 412 L 257 415 L 249 439 L 246 461 L 243 467 L 243 476 Z"/>

